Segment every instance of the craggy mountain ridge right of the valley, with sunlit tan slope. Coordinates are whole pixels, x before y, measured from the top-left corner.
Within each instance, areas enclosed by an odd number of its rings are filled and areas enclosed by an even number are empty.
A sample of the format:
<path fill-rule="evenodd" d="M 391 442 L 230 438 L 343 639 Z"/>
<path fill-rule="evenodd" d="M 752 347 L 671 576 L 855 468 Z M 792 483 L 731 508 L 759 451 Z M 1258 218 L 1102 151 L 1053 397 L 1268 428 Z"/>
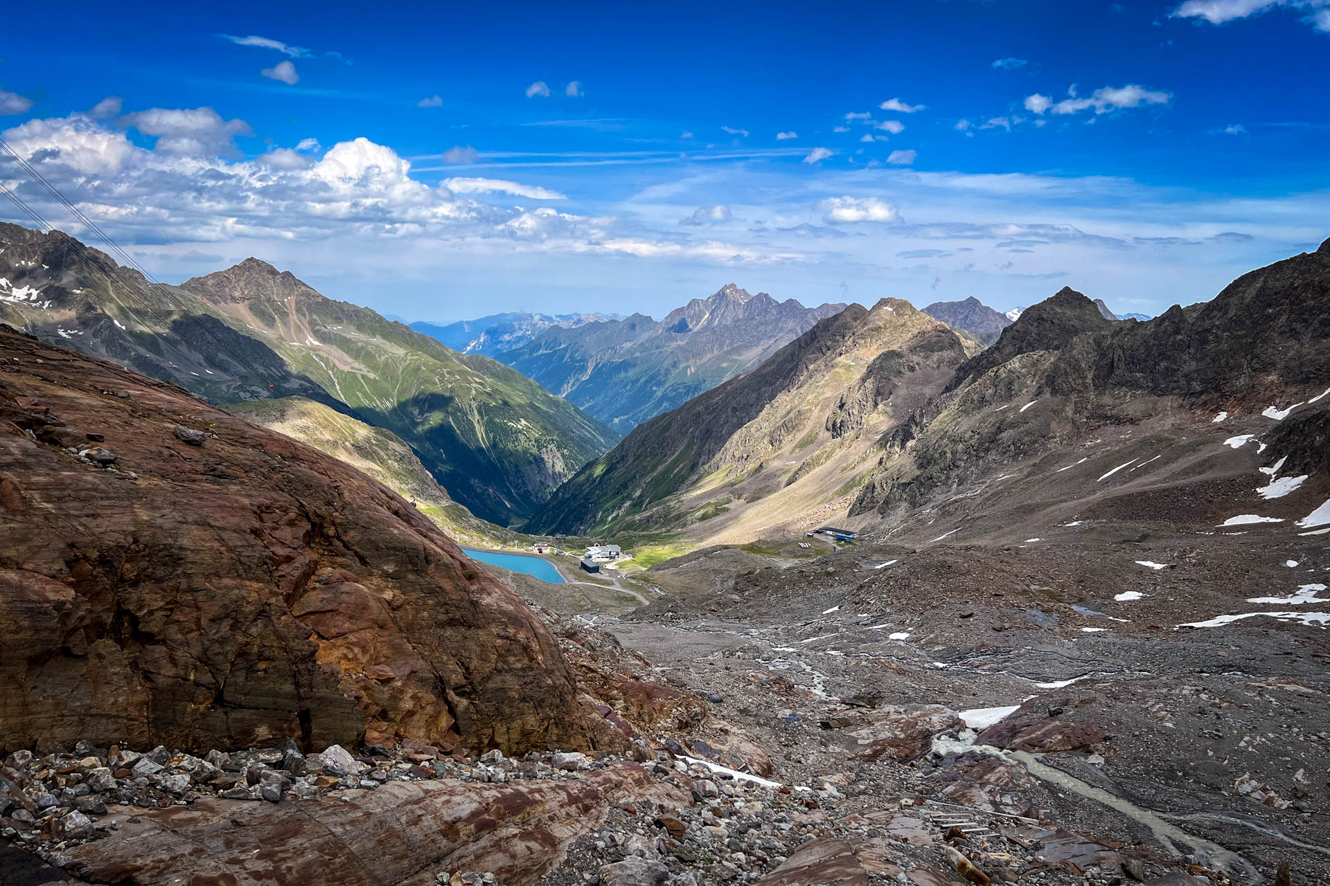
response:
<path fill-rule="evenodd" d="M 1144 323 L 1063 288 L 978 353 L 904 302 L 850 306 L 634 429 L 529 525 L 681 530 L 698 545 L 831 519 L 868 529 L 1146 416 L 1189 440 L 1209 430 L 1194 410 L 1226 418 L 1325 396 L 1313 395 L 1330 384 L 1327 295 L 1330 242 Z M 1325 466 L 1301 450 L 1290 470 Z"/>

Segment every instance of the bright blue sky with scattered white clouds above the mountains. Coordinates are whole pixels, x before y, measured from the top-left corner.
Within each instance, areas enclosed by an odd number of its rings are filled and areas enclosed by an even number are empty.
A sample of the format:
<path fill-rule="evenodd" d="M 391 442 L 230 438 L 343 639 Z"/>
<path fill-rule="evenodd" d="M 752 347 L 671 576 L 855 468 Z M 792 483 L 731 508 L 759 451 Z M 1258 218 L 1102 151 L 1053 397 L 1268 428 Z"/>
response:
<path fill-rule="evenodd" d="M 1330 235 L 1330 0 L 225 5 L 29 5 L 0 43 L 4 138 L 166 280 L 1157 313 Z"/>

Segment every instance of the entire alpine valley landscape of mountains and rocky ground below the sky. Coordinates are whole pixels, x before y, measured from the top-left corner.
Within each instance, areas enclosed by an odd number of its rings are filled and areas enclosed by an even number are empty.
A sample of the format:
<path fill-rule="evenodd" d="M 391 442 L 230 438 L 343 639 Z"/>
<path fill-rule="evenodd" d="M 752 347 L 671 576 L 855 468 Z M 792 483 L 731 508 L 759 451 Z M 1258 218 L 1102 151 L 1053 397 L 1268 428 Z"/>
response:
<path fill-rule="evenodd" d="M 0 248 L 0 882 L 1330 882 L 1330 240 L 431 335 Z"/>

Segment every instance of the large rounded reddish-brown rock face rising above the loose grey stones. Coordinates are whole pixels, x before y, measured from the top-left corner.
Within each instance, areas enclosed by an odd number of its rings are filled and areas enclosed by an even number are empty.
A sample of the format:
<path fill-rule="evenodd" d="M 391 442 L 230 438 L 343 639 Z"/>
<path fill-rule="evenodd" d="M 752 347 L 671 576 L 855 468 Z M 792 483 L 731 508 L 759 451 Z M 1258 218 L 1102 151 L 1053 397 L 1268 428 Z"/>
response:
<path fill-rule="evenodd" d="M 215 436 L 189 445 L 178 425 Z M 374 729 L 511 753 L 606 729 L 525 604 L 396 494 L 8 327 L 0 685 L 11 749 L 323 748 Z"/>

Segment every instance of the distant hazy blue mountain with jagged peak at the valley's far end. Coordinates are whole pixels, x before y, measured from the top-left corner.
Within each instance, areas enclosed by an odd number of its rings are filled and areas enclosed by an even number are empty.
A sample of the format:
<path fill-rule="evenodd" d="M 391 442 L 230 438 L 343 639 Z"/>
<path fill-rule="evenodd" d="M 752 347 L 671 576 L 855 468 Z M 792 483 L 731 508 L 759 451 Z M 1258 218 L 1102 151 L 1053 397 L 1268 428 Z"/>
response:
<path fill-rule="evenodd" d="M 806 308 L 794 299 L 726 284 L 656 321 L 551 328 L 497 359 L 567 397 L 620 433 L 746 372 L 843 304 Z"/>

